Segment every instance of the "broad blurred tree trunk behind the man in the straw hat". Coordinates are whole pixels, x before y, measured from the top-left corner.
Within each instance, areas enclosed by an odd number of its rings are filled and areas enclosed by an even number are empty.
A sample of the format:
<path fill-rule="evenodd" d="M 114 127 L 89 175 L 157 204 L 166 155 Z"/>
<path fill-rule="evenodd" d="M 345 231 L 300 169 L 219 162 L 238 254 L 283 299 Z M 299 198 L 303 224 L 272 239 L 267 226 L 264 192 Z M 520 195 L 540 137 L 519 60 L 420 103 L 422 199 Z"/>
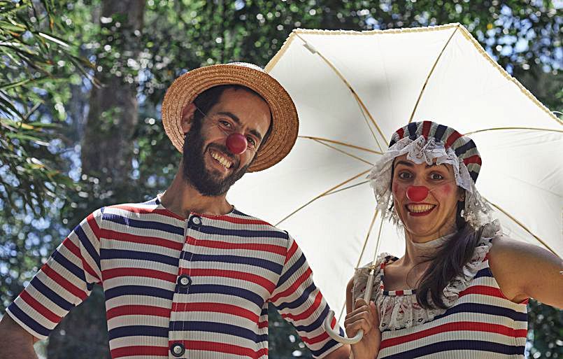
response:
<path fill-rule="evenodd" d="M 144 10 L 145 0 L 103 0 L 101 4 L 96 64 L 102 69 L 95 77 L 103 85 L 92 87 L 90 93 L 82 141 L 82 173 L 99 178 L 106 191 L 117 194 L 130 185 L 137 100 L 136 69 L 131 69 L 134 66 L 129 62 L 136 62 L 141 50 Z M 111 50 L 106 50 L 106 45 Z M 57 325 L 50 335 L 47 357 L 111 358 L 104 291 L 99 286 Z"/>

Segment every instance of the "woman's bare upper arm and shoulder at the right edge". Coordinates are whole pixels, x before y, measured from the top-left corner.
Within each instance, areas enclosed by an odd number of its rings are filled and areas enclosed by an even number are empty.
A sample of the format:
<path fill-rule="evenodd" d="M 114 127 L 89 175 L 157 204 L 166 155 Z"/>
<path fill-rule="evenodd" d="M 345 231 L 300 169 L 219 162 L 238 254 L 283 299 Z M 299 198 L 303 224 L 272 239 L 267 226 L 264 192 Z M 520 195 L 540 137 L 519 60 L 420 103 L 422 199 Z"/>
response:
<path fill-rule="evenodd" d="M 563 260 L 546 249 L 507 237 L 493 239 L 489 265 L 502 293 L 519 303 L 532 297 L 563 308 Z"/>

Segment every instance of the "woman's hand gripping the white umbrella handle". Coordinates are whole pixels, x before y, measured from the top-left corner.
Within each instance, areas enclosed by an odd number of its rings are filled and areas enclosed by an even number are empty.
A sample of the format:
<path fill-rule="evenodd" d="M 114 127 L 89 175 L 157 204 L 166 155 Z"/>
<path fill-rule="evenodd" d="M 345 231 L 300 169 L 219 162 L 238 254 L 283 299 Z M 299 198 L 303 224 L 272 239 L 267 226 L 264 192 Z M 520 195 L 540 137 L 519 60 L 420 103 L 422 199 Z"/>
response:
<path fill-rule="evenodd" d="M 356 300 L 354 310 L 346 314 L 344 328 L 350 338 L 357 331 L 364 330 L 364 337 L 357 344 L 352 344 L 354 359 L 375 359 L 379 353 L 381 332 L 379 330 L 379 315 L 376 304 L 367 304 L 363 299 Z"/>

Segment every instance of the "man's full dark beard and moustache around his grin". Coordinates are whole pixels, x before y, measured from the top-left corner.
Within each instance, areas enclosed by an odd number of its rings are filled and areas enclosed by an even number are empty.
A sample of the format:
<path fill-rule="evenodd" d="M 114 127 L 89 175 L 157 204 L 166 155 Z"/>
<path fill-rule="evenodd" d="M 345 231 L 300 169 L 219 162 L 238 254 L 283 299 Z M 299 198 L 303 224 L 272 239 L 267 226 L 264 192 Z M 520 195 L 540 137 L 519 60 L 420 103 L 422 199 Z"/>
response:
<path fill-rule="evenodd" d="M 210 144 L 208 148 L 216 148 L 222 153 L 228 154 L 229 150 L 225 146 L 217 144 Z M 225 195 L 231 185 L 234 185 L 245 173 L 250 164 L 232 172 L 224 179 L 215 176 L 211 171 L 205 167 L 204 153 L 204 138 L 201 136 L 201 125 L 194 123 L 190 132 L 187 133 L 184 148 L 183 148 L 183 176 L 185 180 L 193 185 L 194 188 L 203 196 L 216 197 Z M 232 167 L 236 168 L 240 162 L 235 158 L 229 158 L 232 162 Z"/>

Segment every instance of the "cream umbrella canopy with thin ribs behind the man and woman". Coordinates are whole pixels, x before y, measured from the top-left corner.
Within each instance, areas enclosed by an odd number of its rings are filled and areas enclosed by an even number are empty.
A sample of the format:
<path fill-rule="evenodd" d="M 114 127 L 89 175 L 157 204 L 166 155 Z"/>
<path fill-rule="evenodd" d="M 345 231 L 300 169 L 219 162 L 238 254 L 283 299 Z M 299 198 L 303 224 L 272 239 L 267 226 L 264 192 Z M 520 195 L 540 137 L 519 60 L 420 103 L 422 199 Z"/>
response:
<path fill-rule="evenodd" d="M 299 138 L 229 200 L 297 239 L 337 316 L 354 267 L 376 251 L 404 253 L 404 235 L 380 219 L 365 177 L 407 122 L 469 134 L 483 159 L 477 188 L 505 234 L 563 256 L 562 122 L 460 24 L 298 29 L 266 71 L 297 105 Z"/>

